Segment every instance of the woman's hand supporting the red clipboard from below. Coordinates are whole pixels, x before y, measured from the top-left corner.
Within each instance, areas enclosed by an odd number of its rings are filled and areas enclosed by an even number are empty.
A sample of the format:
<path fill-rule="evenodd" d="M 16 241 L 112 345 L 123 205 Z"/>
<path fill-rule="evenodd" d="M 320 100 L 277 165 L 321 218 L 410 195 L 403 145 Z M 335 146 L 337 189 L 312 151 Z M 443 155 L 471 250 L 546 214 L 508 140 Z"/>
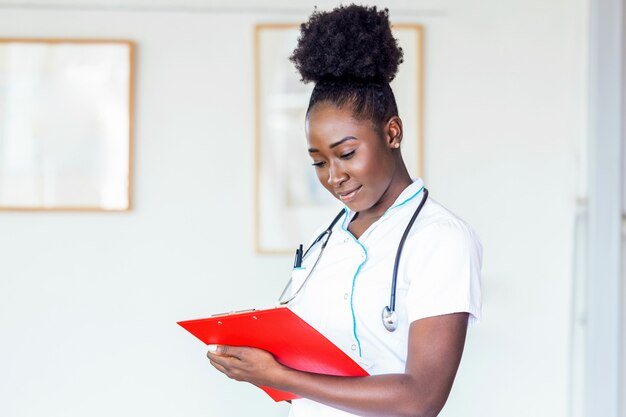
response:
<path fill-rule="evenodd" d="M 257 386 L 274 386 L 287 369 L 271 353 L 252 347 L 210 345 L 207 357 L 227 377 Z"/>

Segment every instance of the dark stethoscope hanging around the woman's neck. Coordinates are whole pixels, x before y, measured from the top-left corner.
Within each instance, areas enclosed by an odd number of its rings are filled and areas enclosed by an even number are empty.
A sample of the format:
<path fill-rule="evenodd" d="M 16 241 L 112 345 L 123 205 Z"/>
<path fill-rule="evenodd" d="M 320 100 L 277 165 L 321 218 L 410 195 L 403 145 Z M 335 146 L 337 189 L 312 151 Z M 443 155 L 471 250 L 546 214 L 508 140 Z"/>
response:
<path fill-rule="evenodd" d="M 393 332 L 398 328 L 398 315 L 396 314 L 396 283 L 398 281 L 398 266 L 400 265 L 400 255 L 402 255 L 402 248 L 404 247 L 404 242 L 406 241 L 406 238 L 409 235 L 411 227 L 413 226 L 413 223 L 415 223 L 415 219 L 417 219 L 417 216 L 422 210 L 422 207 L 424 207 L 424 203 L 426 203 L 427 198 L 428 198 L 428 190 L 424 188 L 424 195 L 422 196 L 422 201 L 420 202 L 419 206 L 417 206 L 417 209 L 415 210 L 415 213 L 413 213 L 411 220 L 409 220 L 409 223 L 407 224 L 406 229 L 404 229 L 404 233 L 402 234 L 402 237 L 400 238 L 400 244 L 398 245 L 398 250 L 396 251 L 396 260 L 393 264 L 393 275 L 391 278 L 391 295 L 389 297 L 389 305 L 385 306 L 382 311 L 383 326 L 385 326 L 385 329 L 387 329 L 390 332 Z M 308 274 L 302 281 L 302 284 L 300 284 L 300 287 L 298 288 L 298 290 L 294 292 L 291 295 L 291 297 L 285 300 L 284 299 L 285 293 L 291 287 L 293 277 L 290 278 L 289 281 L 287 282 L 285 289 L 283 289 L 283 292 L 280 294 L 280 297 L 278 299 L 281 305 L 285 305 L 291 302 L 294 298 L 298 296 L 302 288 L 304 288 L 304 286 L 306 285 L 306 282 L 309 280 L 309 277 L 311 276 L 311 274 L 315 270 L 315 267 L 319 263 L 322 257 L 322 254 L 324 253 L 324 249 L 326 249 L 326 245 L 328 244 L 328 241 L 330 240 L 330 236 L 333 233 L 333 228 L 335 227 L 339 219 L 341 219 L 344 216 L 345 213 L 346 213 L 345 210 L 341 210 L 341 212 L 339 212 L 339 214 L 337 214 L 337 216 L 333 219 L 333 221 L 328 225 L 326 230 L 324 230 L 322 233 L 320 233 L 320 235 L 317 238 L 315 238 L 313 243 L 309 245 L 309 247 L 304 253 L 302 253 L 302 245 L 300 245 L 300 249 L 296 251 L 296 262 L 295 262 L 296 267 L 299 267 L 301 265 L 302 260 L 307 256 L 307 254 L 309 253 L 309 251 L 311 250 L 313 246 L 315 246 L 319 242 L 322 242 L 322 246 L 320 248 L 319 254 L 317 255 L 317 259 L 315 260 L 315 263 L 313 264 Z"/>

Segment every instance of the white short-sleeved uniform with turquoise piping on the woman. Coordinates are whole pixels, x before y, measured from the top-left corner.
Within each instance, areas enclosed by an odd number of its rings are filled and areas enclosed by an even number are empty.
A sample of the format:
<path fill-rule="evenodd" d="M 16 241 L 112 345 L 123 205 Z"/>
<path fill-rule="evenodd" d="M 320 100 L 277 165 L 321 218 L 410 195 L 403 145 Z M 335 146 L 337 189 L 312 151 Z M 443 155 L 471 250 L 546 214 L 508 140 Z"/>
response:
<path fill-rule="evenodd" d="M 424 317 L 468 312 L 480 318 L 482 248 L 474 231 L 430 197 L 402 251 L 396 289 L 399 323 L 385 329 L 381 312 L 389 304 L 393 263 L 406 225 L 423 197 L 415 180 L 385 214 L 355 239 L 347 230 L 354 212 L 333 228 L 331 238 L 301 293 L 289 304 L 372 375 L 404 372 L 409 325 Z M 314 246 L 294 271 L 300 284 L 319 253 Z M 308 400 L 292 402 L 291 417 L 352 416 Z"/>

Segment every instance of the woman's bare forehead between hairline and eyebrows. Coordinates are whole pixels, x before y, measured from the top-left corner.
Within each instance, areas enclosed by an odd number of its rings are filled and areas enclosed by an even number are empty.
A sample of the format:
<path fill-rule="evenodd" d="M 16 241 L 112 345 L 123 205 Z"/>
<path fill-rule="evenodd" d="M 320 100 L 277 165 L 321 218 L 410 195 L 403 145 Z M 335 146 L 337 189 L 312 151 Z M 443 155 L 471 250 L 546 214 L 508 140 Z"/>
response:
<path fill-rule="evenodd" d="M 371 120 L 354 117 L 350 106 L 337 107 L 330 103 L 316 105 L 306 119 L 306 135 L 309 141 L 336 139 L 346 135 L 376 135 L 377 129 Z"/>

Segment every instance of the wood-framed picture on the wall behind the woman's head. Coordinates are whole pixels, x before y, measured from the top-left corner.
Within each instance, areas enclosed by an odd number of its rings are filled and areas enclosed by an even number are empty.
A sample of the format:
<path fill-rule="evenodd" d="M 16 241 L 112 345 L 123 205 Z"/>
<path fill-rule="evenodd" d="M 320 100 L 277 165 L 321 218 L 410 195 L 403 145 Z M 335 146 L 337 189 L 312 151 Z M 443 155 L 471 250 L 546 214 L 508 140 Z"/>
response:
<path fill-rule="evenodd" d="M 409 172 L 423 176 L 422 27 L 392 27 L 404 62 L 391 87 L 403 121 L 402 154 Z M 308 156 L 304 118 L 313 83 L 303 84 L 289 56 L 296 24 L 255 28 L 255 241 L 259 254 L 288 254 L 307 243 L 343 205 L 319 184 Z"/>

